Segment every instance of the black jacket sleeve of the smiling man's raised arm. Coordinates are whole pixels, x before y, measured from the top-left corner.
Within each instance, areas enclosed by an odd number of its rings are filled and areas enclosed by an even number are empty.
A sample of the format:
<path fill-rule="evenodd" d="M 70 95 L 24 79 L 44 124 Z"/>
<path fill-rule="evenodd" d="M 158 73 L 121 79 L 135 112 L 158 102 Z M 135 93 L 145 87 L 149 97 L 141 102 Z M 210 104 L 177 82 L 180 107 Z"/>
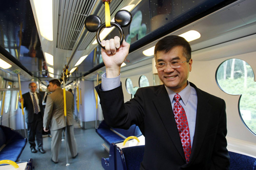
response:
<path fill-rule="evenodd" d="M 135 98 L 124 104 L 122 85 L 112 90 L 103 91 L 100 84 L 95 89 L 100 98 L 104 120 L 109 126 L 129 129 L 133 124 L 141 125 L 144 109 L 142 107 L 143 100 L 139 95 L 135 95 Z M 140 90 L 137 90 L 136 94 L 138 91 Z"/>

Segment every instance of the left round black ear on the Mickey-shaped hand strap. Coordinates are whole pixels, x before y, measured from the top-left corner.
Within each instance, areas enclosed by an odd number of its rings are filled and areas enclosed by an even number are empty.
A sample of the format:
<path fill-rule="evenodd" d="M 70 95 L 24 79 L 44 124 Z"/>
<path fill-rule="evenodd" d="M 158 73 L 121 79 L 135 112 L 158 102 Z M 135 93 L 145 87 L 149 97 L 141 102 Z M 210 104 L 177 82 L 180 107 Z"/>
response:
<path fill-rule="evenodd" d="M 84 21 L 84 26 L 90 32 L 96 32 L 101 25 L 101 20 L 97 15 L 89 15 Z"/>

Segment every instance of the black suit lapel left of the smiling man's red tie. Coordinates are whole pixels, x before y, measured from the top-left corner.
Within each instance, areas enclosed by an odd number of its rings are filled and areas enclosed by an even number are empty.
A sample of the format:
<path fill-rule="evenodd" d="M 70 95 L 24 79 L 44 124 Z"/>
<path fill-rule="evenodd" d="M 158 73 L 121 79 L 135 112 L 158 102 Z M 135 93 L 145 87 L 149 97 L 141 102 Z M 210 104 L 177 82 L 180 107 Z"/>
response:
<path fill-rule="evenodd" d="M 177 151 L 185 161 L 184 151 L 180 141 L 180 135 L 174 118 L 172 104 L 170 103 L 168 93 L 164 85 L 156 91 L 157 98 L 153 100 L 163 125 L 175 145 Z"/>

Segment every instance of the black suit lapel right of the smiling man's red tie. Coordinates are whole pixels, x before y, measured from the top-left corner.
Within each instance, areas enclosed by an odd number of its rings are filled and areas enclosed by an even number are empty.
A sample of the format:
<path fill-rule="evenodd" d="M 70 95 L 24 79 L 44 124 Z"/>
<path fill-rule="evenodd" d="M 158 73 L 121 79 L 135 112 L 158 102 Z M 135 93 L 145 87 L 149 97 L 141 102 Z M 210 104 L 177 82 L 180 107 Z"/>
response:
<path fill-rule="evenodd" d="M 197 118 L 196 118 L 196 128 L 193 141 L 193 147 L 191 151 L 190 162 L 193 161 L 199 154 L 200 148 L 204 141 L 204 136 L 206 135 L 207 126 L 210 121 L 210 110 L 211 105 L 208 103 L 209 99 L 201 93 L 201 91 L 192 83 L 190 83 L 197 91 Z"/>

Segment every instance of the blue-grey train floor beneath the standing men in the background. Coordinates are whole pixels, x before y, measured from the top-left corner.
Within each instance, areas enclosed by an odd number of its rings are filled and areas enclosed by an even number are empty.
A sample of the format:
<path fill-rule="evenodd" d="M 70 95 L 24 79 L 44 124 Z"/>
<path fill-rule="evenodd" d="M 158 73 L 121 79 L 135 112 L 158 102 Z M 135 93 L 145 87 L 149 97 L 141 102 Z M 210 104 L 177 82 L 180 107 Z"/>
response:
<path fill-rule="evenodd" d="M 74 126 L 74 133 L 78 147 L 78 156 L 72 159 L 68 152 L 69 166 L 66 158 L 66 143 L 62 141 L 59 153 L 58 164 L 51 161 L 51 138 L 46 136 L 43 138 L 45 154 L 40 152 L 31 153 L 29 143 L 20 155 L 21 161 L 27 161 L 29 158 L 34 160 L 35 169 L 103 169 L 101 166 L 101 158 L 108 158 L 109 153 L 101 146 L 103 139 L 95 132 L 95 129 L 82 130 L 78 125 Z"/>

